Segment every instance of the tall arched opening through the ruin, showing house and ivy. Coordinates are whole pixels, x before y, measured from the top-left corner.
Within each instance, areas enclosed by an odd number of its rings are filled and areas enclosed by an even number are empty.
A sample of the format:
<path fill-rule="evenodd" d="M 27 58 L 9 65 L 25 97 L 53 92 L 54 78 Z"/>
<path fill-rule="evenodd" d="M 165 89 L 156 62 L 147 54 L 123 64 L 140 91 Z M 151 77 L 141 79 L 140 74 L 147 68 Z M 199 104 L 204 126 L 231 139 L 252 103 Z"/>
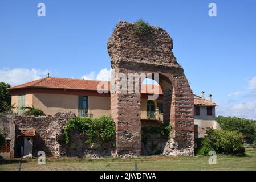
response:
<path fill-rule="evenodd" d="M 169 135 L 165 127 L 170 124 L 172 82 L 159 74 L 157 79 L 145 78 L 141 84 L 141 155 L 163 154 Z M 156 94 L 153 99 L 149 96 Z"/>

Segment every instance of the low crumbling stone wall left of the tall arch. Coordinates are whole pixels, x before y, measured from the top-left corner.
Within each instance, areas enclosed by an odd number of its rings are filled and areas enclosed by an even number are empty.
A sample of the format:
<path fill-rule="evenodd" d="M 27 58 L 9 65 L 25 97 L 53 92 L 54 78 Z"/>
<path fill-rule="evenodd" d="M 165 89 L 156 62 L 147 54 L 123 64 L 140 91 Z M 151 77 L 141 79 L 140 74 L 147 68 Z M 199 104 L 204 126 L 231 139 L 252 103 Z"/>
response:
<path fill-rule="evenodd" d="M 99 146 L 96 142 L 92 146 L 85 143 L 86 136 L 74 131 L 71 133 L 70 144 L 64 142 L 64 126 L 69 119 L 75 118 L 74 113 L 57 113 L 53 117 L 26 117 L 26 116 L 6 116 L 0 117 L 0 123 L 5 122 L 3 129 L 7 137 L 11 137 L 10 126 L 14 126 L 16 133 L 21 128 L 34 128 L 36 135 L 33 139 L 33 155 L 37 156 L 38 151 L 46 152 L 46 156 L 111 156 L 115 153 L 116 148 L 111 143 Z M 14 130 L 15 131 L 15 130 Z M 13 135 L 15 132 L 13 131 Z M 13 147 L 15 143 L 13 136 Z"/>

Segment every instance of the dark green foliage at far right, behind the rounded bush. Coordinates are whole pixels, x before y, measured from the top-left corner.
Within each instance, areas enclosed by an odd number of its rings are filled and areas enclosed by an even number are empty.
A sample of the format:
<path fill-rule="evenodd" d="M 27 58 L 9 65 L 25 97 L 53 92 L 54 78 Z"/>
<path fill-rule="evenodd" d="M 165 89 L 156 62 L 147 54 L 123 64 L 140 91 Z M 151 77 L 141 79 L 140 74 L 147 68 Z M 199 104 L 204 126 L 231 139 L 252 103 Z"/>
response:
<path fill-rule="evenodd" d="M 253 143 L 256 139 L 256 121 L 237 117 L 216 117 L 222 130 L 239 131 L 245 137 L 247 143 Z"/>

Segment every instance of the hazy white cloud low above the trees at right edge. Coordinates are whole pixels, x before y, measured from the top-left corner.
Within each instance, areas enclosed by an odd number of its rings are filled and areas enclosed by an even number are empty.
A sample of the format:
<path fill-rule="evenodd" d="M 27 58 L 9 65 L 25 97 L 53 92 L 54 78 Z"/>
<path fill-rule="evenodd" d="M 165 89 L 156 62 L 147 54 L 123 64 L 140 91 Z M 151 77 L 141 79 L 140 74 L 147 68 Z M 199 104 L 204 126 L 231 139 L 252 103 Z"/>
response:
<path fill-rule="evenodd" d="M 256 119 L 256 100 L 248 102 L 237 102 L 230 106 L 219 105 L 216 108 L 216 115 Z"/>

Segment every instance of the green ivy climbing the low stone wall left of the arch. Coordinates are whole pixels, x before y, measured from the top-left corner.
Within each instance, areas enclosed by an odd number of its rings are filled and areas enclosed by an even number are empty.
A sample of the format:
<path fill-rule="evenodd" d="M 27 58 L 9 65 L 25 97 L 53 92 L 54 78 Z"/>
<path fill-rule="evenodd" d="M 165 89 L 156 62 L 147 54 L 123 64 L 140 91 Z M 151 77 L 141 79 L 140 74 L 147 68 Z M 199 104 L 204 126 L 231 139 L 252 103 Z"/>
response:
<path fill-rule="evenodd" d="M 64 127 L 64 141 L 66 144 L 70 143 L 70 134 L 75 130 L 87 136 L 86 143 L 88 145 L 91 145 L 93 140 L 101 144 L 110 141 L 113 143 L 116 134 L 113 118 L 105 115 L 96 119 L 80 117 L 70 119 Z"/>

